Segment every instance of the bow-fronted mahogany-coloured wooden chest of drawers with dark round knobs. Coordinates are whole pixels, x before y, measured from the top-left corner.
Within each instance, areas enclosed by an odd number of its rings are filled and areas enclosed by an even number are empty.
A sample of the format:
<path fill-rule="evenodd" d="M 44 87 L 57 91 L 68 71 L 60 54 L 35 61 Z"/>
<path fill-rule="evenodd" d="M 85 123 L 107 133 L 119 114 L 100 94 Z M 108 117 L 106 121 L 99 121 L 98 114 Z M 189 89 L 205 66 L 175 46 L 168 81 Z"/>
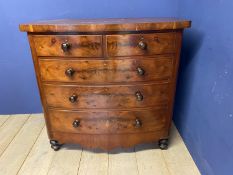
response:
<path fill-rule="evenodd" d="M 168 146 L 187 20 L 54 20 L 28 33 L 51 147 Z"/>

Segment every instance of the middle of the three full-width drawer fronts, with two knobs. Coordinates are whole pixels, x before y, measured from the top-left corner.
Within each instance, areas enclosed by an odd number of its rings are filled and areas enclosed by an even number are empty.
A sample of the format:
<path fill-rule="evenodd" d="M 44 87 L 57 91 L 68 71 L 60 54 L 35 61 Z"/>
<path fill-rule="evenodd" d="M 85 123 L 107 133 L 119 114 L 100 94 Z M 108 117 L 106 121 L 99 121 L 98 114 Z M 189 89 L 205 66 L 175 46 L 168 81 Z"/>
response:
<path fill-rule="evenodd" d="M 169 84 L 76 86 L 44 85 L 50 107 L 129 108 L 167 104 Z"/>

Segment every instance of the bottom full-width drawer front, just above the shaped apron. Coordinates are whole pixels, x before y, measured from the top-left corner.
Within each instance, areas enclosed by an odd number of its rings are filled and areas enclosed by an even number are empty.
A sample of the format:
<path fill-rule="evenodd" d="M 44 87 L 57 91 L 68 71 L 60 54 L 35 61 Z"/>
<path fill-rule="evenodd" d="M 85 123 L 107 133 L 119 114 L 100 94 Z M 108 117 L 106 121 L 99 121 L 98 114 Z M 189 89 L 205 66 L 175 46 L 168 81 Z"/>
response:
<path fill-rule="evenodd" d="M 142 133 L 162 130 L 167 110 L 137 111 L 56 111 L 49 110 L 54 132 L 83 134 Z"/>

